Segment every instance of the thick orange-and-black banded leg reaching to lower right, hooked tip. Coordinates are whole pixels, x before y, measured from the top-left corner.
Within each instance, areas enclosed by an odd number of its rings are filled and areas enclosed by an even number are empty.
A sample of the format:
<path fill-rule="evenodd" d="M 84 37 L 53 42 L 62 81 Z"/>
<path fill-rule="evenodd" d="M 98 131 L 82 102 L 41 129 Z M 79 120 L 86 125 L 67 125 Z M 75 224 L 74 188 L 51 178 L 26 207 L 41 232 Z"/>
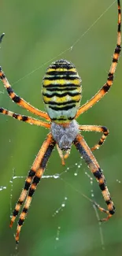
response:
<path fill-rule="evenodd" d="M 106 218 L 102 219 L 102 221 L 108 221 L 109 218 L 112 217 L 113 214 L 115 213 L 115 207 L 109 195 L 109 190 L 108 190 L 108 187 L 106 186 L 105 176 L 102 173 L 102 169 L 100 169 L 98 162 L 94 158 L 94 155 L 92 154 L 91 149 L 87 146 L 87 143 L 83 139 L 82 135 L 76 136 L 74 144 L 76 146 L 76 149 L 83 156 L 83 159 L 86 161 L 87 166 L 91 169 L 91 173 L 94 174 L 94 177 L 98 181 L 99 187 L 102 190 L 102 195 L 105 200 L 105 203 L 107 204 L 108 210 L 103 209 L 96 202 L 94 202 L 94 205 L 97 206 L 98 209 L 101 210 L 102 212 L 105 212 L 108 214 Z"/>

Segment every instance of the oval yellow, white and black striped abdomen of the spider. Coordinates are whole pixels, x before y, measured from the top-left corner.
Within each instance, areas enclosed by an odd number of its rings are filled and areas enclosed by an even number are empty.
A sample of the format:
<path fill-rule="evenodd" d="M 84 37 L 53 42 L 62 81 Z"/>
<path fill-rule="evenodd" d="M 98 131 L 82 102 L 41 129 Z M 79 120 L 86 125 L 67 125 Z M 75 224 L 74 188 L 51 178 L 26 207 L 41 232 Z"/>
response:
<path fill-rule="evenodd" d="M 55 61 L 43 78 L 43 101 L 52 121 L 68 123 L 74 119 L 81 99 L 81 79 L 75 66 Z"/>

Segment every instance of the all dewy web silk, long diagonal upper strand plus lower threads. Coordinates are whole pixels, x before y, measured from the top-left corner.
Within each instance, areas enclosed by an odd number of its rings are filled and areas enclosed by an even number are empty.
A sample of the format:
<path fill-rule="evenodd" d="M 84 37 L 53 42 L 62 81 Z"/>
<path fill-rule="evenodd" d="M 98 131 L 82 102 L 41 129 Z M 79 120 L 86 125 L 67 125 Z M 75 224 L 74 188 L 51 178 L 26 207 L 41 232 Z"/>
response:
<path fill-rule="evenodd" d="M 33 69 L 31 72 L 28 72 L 28 74 L 26 74 L 25 76 L 21 77 L 19 80 L 17 80 L 16 82 L 14 82 L 12 85 L 17 84 L 18 82 L 20 82 L 21 80 L 24 80 L 25 77 L 27 76 L 31 76 L 32 73 L 36 72 L 39 69 L 42 69 L 43 66 L 47 65 L 48 63 L 50 64 L 52 61 L 54 61 L 55 59 L 61 57 L 62 54 L 65 54 L 67 51 L 72 50 L 74 46 L 76 46 L 77 43 L 79 43 L 79 41 L 82 40 L 83 36 L 87 35 L 88 32 L 91 31 L 91 29 L 95 26 L 95 24 L 98 23 L 98 21 L 100 19 L 102 19 L 102 17 L 105 15 L 105 13 L 107 13 L 109 11 L 109 9 L 116 3 L 116 1 L 114 1 L 111 5 L 108 6 L 108 8 L 105 9 L 105 11 L 94 21 L 93 24 L 90 25 L 89 28 L 87 28 L 87 30 L 85 32 L 83 32 L 82 35 L 79 36 L 78 39 L 76 39 L 76 41 L 74 43 L 72 43 L 72 46 L 69 46 L 67 49 L 63 50 L 60 54 L 57 54 L 57 56 L 55 56 L 54 58 L 51 58 L 49 61 L 46 61 L 43 65 L 40 65 L 39 67 L 37 67 L 36 69 Z M 2 48 L 2 47 L 1 47 Z M 2 49 L 0 49 L 2 50 Z M 4 94 L 4 89 L 2 91 L 0 91 L 0 94 Z M 88 198 L 87 195 L 84 195 L 82 191 L 79 191 L 76 189 L 76 187 L 73 187 L 72 184 L 68 183 L 65 180 L 65 173 L 68 173 L 70 169 L 73 169 L 74 172 L 74 177 L 78 176 L 79 174 L 79 169 L 81 169 L 82 167 L 82 159 L 80 159 L 80 161 L 72 166 L 69 166 L 68 168 L 65 169 L 65 171 L 63 173 L 54 173 L 54 175 L 43 175 L 43 179 L 61 179 L 62 182 L 64 182 L 65 184 L 67 184 L 69 187 L 72 188 L 73 191 L 76 191 L 76 193 L 78 193 L 79 195 L 81 195 L 81 197 L 86 198 L 87 200 L 89 200 L 90 202 L 95 201 L 94 199 L 94 190 L 93 190 L 93 183 L 94 183 L 94 178 L 91 176 L 91 174 L 89 174 L 87 172 L 87 168 L 84 170 L 85 175 L 87 176 L 90 184 L 91 184 L 91 188 L 90 188 L 90 194 L 91 194 L 91 198 Z M 48 168 L 48 167 L 47 167 Z M 15 170 L 12 170 L 12 178 L 11 180 L 9 180 L 10 183 L 10 214 L 12 214 L 13 211 L 13 193 L 14 193 L 14 189 L 13 189 L 13 184 L 14 184 L 14 180 L 16 179 L 25 179 L 26 176 L 16 176 L 15 175 Z M 116 180 L 117 183 L 121 184 L 120 180 Z M 1 186 L 0 187 L 0 191 L 4 191 L 6 188 L 9 188 L 9 185 L 7 186 Z M 67 202 L 68 200 L 70 200 L 69 197 L 67 197 L 67 195 L 65 195 L 65 198 L 62 198 L 62 202 L 59 202 L 59 206 L 56 206 L 56 210 L 54 210 L 54 213 L 52 213 L 52 217 L 58 217 L 58 214 L 64 213 L 66 211 L 66 206 L 67 206 Z M 105 242 L 104 242 L 104 237 L 103 237 L 103 232 L 102 232 L 102 224 L 101 222 L 99 222 L 100 217 L 99 217 L 99 213 L 98 210 L 96 209 L 96 207 L 94 206 L 94 204 L 92 204 L 94 207 L 94 213 L 95 216 L 97 218 L 98 221 L 98 230 L 99 230 L 99 236 L 100 236 L 100 242 L 101 242 L 101 247 L 102 250 L 105 250 Z M 54 242 L 54 249 L 57 250 L 57 243 L 60 239 L 60 235 L 61 235 L 61 225 L 57 225 L 57 231 L 55 233 L 55 242 Z M 11 254 L 12 255 L 12 254 Z M 16 254 L 17 255 L 17 254 Z"/>

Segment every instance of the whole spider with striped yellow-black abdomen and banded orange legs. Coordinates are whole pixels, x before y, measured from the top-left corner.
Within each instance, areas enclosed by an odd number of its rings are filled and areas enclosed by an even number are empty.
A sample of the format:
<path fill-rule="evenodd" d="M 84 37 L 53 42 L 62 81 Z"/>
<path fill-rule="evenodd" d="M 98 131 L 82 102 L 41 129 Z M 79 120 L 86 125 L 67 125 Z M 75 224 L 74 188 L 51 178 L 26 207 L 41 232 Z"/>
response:
<path fill-rule="evenodd" d="M 116 65 L 121 50 L 120 0 L 117 0 L 117 6 L 117 43 L 113 53 L 113 61 L 109 69 L 107 81 L 97 92 L 97 94 L 94 95 L 94 97 L 86 102 L 83 106 L 80 106 L 81 79 L 75 65 L 69 61 L 65 61 L 64 59 L 55 61 L 46 70 L 46 74 L 43 78 L 43 101 L 46 105 L 47 113 L 39 109 L 35 109 L 35 107 L 24 101 L 23 98 L 17 96 L 9 84 L 4 72 L 2 72 L 2 68 L 0 68 L 0 78 L 13 102 L 17 103 L 17 105 L 23 107 L 24 109 L 27 109 L 31 113 L 35 113 L 35 115 L 43 117 L 48 122 L 13 113 L 2 107 L 0 108 L 0 113 L 13 117 L 19 121 L 24 121 L 28 124 L 35 124 L 50 129 L 50 133 L 47 135 L 43 146 L 39 150 L 35 161 L 31 165 L 28 177 L 25 180 L 24 188 L 20 194 L 20 198 L 18 199 L 15 209 L 13 210 L 13 217 L 10 221 L 10 227 L 13 226 L 13 222 L 15 221 L 20 211 L 20 207 L 25 200 L 24 208 L 20 213 L 20 218 L 17 224 L 17 233 L 15 236 L 17 243 L 19 242 L 20 229 L 24 223 L 24 219 L 28 213 L 28 208 L 31 204 L 32 195 L 34 194 L 35 189 L 43 176 L 47 161 L 50 158 L 50 154 L 54 150 L 55 145 L 57 146 L 57 151 L 61 158 L 62 165 L 65 165 L 65 159 L 68 158 L 72 144 L 74 144 L 76 149 L 79 151 L 79 154 L 81 154 L 84 161 L 86 161 L 87 166 L 91 169 L 91 172 L 94 174 L 94 177 L 98 181 L 99 187 L 102 190 L 105 203 L 107 204 L 107 210 L 105 210 L 94 202 L 99 210 L 107 213 L 107 217 L 102 219 L 102 221 L 109 220 L 109 218 L 113 216 L 113 213 L 115 213 L 115 207 L 109 195 L 108 187 L 105 183 L 105 176 L 102 173 L 102 169 L 100 169 L 100 166 L 98 165 L 98 161 L 92 154 L 93 150 L 98 149 L 104 143 L 106 136 L 109 135 L 109 130 L 98 125 L 79 125 L 76 122 L 76 118 L 79 117 L 80 114 L 87 111 L 87 109 L 90 109 L 91 106 L 94 106 L 94 104 L 109 91 L 109 88 L 113 84 L 113 74 L 116 70 Z M 2 37 L 3 34 L 1 35 L 1 40 Z M 83 136 L 80 134 L 80 131 L 102 132 L 102 137 L 99 142 L 90 149 L 83 139 Z"/>

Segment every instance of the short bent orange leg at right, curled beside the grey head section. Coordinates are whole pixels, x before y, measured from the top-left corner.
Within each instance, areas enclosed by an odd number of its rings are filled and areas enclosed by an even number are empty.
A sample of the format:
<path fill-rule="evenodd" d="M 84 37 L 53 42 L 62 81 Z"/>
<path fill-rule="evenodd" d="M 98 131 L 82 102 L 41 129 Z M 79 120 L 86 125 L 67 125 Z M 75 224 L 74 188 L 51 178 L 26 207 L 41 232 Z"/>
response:
<path fill-rule="evenodd" d="M 107 135 L 109 135 L 109 129 L 105 126 L 98 126 L 98 125 L 79 125 L 80 131 L 86 132 L 102 132 L 103 135 L 99 140 L 98 144 L 95 144 L 94 147 L 91 147 L 91 151 L 97 150 L 102 144 L 105 142 Z"/>

